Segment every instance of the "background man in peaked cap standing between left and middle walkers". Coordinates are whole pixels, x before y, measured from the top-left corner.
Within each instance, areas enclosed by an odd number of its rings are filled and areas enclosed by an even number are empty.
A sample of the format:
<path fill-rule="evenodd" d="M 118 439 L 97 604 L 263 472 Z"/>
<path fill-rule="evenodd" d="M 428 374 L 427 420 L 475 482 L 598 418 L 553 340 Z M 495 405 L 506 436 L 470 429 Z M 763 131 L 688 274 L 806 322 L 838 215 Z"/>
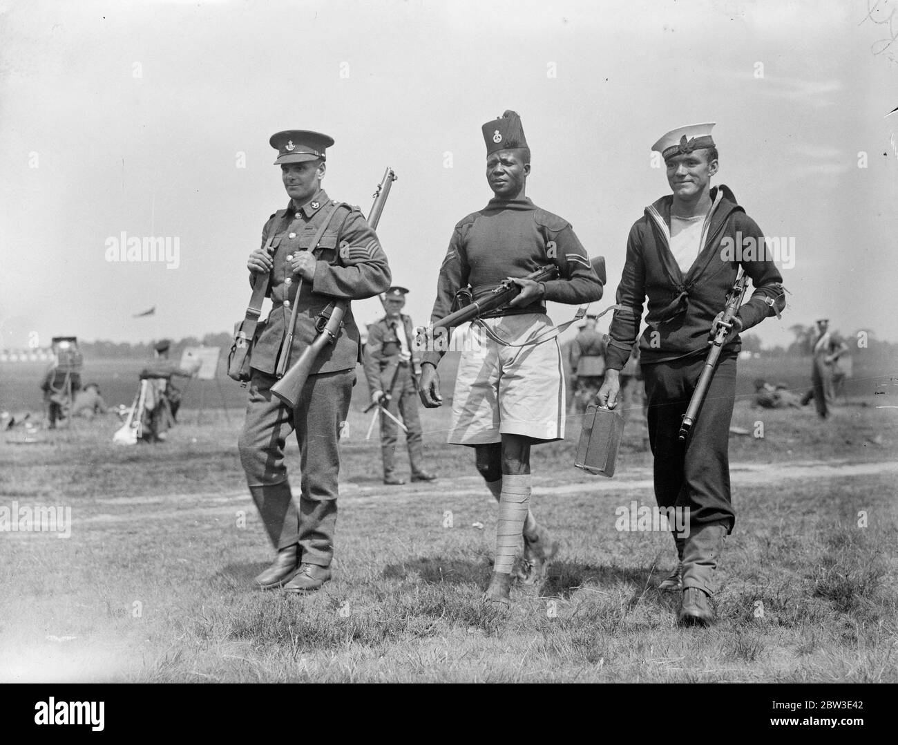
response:
<path fill-rule="evenodd" d="M 371 392 L 371 403 L 380 404 L 393 416 L 401 413 L 408 430 L 405 435 L 409 448 L 411 480 L 433 481 L 434 474 L 424 468 L 424 446 L 421 421 L 418 419 L 418 375 L 420 359 L 412 344 L 411 318 L 402 313 L 409 290 L 392 287 L 383 298 L 387 315 L 368 327 L 365 344 L 365 378 Z M 396 422 L 381 412 L 381 457 L 383 483 L 401 484 L 405 479 L 393 473 L 396 452 Z"/>

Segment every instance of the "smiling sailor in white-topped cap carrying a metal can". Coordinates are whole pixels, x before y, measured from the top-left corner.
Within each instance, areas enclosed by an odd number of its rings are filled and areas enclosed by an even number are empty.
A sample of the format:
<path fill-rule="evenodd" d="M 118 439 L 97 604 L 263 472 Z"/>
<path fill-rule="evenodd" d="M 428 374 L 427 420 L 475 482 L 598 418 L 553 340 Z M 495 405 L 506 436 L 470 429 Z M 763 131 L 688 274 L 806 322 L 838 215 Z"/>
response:
<path fill-rule="evenodd" d="M 718 172 L 713 127 L 707 123 L 673 129 L 652 146 L 665 159 L 674 193 L 647 207 L 629 231 L 617 291 L 617 303 L 624 309 L 616 310 L 612 319 L 605 381 L 598 395 L 602 405 L 617 404 L 620 371 L 637 342 L 648 298 L 639 361 L 655 457 L 655 495 L 659 507 L 688 510 L 689 517 L 688 534 L 674 533 L 680 563 L 660 585 L 663 590 L 682 589 L 677 614 L 682 625 L 713 621 L 713 572 L 724 537 L 735 523 L 727 446 L 739 333 L 779 315 L 786 304 L 776 265 L 767 256 L 742 261 L 742 246 L 738 253 L 733 251 L 743 236 L 761 246 L 764 238 L 732 191 L 723 185 L 711 187 L 711 177 Z M 739 309 L 700 416 L 684 444 L 677 436 L 682 416 L 708 355 L 709 334 L 717 330 L 740 265 L 754 291 Z"/>

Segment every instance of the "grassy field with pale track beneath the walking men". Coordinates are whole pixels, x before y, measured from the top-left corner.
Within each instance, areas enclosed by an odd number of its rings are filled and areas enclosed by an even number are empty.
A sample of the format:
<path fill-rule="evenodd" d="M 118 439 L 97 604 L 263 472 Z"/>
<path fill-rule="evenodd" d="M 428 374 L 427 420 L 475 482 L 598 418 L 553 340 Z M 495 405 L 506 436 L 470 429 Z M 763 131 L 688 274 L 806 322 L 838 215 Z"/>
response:
<path fill-rule="evenodd" d="M 638 421 L 611 480 L 573 467 L 577 418 L 534 449 L 535 512 L 562 551 L 497 616 L 479 602 L 497 510 L 471 451 L 445 446 L 447 407 L 423 415 L 440 481 L 387 488 L 362 405 L 342 446 L 335 579 L 304 599 L 251 586 L 270 548 L 237 458 L 241 412 L 198 425 L 186 411 L 158 446 L 115 448 L 113 417 L 0 440 L 0 507 L 72 516 L 66 539 L 0 538 L 0 680 L 898 682 L 894 409 L 824 424 L 737 402 L 734 424 L 762 421 L 764 437 L 731 438 L 720 620 L 684 630 L 655 589 L 670 537 L 614 528 L 617 507 L 654 504 Z"/>

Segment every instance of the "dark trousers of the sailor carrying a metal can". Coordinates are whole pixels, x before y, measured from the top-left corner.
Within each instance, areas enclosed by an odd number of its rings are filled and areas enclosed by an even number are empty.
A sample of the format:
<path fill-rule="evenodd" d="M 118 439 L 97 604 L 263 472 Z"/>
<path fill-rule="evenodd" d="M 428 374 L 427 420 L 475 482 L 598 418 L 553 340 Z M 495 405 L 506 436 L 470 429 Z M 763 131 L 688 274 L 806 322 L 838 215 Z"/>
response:
<path fill-rule="evenodd" d="M 729 532 L 735 523 L 728 457 L 735 357 L 718 361 L 689 439 L 682 443 L 677 438 L 704 364 L 701 355 L 642 366 L 648 438 L 655 456 L 655 496 L 659 507 L 688 507 L 691 526 L 724 521 Z"/>

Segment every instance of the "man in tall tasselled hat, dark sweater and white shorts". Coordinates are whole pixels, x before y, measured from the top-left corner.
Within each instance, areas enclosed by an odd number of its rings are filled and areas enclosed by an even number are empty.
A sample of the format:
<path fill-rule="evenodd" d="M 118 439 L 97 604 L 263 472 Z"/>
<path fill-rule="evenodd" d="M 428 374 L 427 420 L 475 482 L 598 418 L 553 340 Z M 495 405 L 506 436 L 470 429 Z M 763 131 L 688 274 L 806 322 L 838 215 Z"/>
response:
<path fill-rule="evenodd" d="M 469 284 L 475 301 L 504 279 L 521 288 L 508 307 L 471 324 L 472 343 L 462 351 L 455 379 L 449 433 L 449 442 L 474 448 L 477 469 L 499 502 L 496 562 L 484 600 L 507 607 L 522 533 L 525 582 L 539 581 L 557 550 L 529 510 L 530 448 L 564 438 L 561 353 L 545 302 L 598 300 L 603 281 L 568 221 L 525 196 L 530 149 L 517 113 L 506 111 L 484 124 L 482 132 L 494 197 L 455 226 L 431 322 L 448 315 L 456 292 Z M 559 279 L 520 279 L 551 263 L 558 266 Z M 442 401 L 436 375 L 442 355 L 427 350 L 421 356 L 421 398 L 428 408 Z"/>

